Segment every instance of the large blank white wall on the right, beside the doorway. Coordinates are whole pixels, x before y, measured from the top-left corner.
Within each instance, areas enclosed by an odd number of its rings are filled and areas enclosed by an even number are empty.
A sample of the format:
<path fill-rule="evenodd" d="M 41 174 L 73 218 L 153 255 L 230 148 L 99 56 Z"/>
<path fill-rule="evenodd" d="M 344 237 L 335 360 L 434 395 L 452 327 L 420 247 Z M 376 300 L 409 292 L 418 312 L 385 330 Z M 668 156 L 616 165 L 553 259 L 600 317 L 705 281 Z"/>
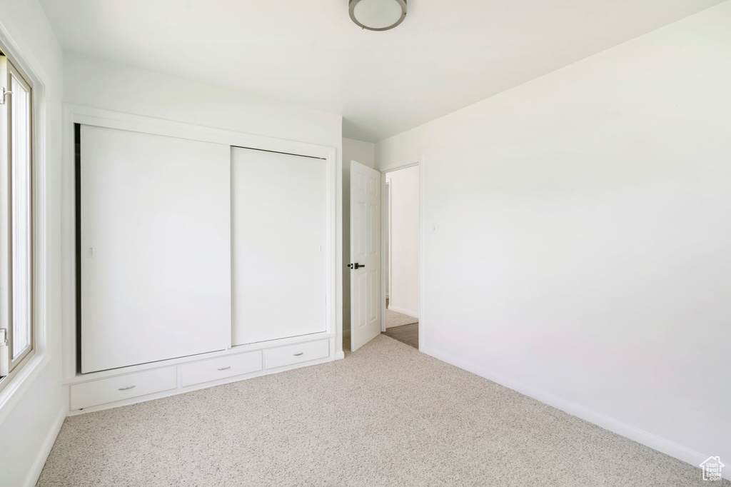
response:
<path fill-rule="evenodd" d="M 438 225 L 421 350 L 731 459 L 730 53 L 726 1 L 378 143 Z"/>

